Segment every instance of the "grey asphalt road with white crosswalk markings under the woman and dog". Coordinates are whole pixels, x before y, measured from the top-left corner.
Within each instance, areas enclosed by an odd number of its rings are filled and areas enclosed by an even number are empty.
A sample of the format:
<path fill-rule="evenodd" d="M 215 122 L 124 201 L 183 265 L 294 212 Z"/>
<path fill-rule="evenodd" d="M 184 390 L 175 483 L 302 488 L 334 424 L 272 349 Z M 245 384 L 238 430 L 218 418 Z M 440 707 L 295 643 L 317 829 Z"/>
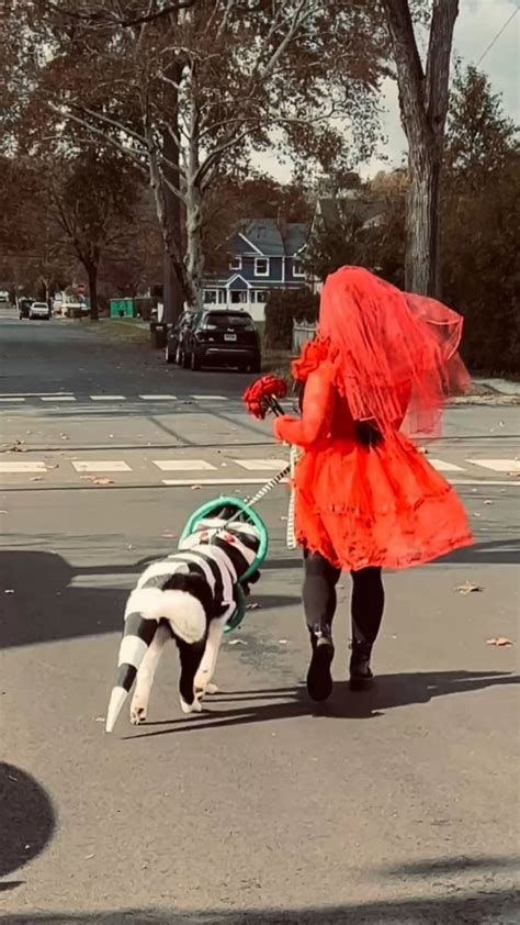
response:
<path fill-rule="evenodd" d="M 171 651 L 149 722 L 125 713 L 105 736 L 143 561 L 285 450 L 245 416 L 247 377 L 167 368 L 66 322 L 0 316 L 0 923 L 518 922 L 518 648 L 486 643 L 518 643 L 518 409 L 457 406 L 429 449 L 476 545 L 386 577 L 372 692 L 346 686 L 346 577 L 335 694 L 306 699 L 281 488 L 221 693 L 182 716 Z"/>

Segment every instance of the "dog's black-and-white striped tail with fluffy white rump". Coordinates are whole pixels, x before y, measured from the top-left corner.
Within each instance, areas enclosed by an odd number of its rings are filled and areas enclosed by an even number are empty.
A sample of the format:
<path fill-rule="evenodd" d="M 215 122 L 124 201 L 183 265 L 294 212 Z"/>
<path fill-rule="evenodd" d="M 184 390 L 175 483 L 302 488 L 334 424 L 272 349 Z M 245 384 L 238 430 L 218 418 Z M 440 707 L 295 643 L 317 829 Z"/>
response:
<path fill-rule="evenodd" d="M 132 592 L 120 644 L 117 676 L 106 712 L 108 733 L 115 726 L 161 618 L 168 620 L 172 632 L 186 643 L 199 642 L 206 632 L 204 609 L 191 594 L 158 588 L 138 588 Z"/>

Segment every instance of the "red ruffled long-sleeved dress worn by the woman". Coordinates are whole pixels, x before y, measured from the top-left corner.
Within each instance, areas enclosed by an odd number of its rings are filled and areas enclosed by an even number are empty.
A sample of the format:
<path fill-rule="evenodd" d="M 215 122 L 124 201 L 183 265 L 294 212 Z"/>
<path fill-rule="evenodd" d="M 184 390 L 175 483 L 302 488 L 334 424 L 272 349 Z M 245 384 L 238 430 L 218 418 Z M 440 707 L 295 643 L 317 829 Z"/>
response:
<path fill-rule="evenodd" d="M 293 376 L 305 382 L 302 419 L 275 419 L 275 436 L 304 450 L 294 478 L 298 544 L 335 566 L 400 569 L 473 543 L 452 487 L 395 430 L 374 447 L 355 441 L 327 341 L 305 345 Z M 402 397 L 404 419 L 408 395 Z"/>

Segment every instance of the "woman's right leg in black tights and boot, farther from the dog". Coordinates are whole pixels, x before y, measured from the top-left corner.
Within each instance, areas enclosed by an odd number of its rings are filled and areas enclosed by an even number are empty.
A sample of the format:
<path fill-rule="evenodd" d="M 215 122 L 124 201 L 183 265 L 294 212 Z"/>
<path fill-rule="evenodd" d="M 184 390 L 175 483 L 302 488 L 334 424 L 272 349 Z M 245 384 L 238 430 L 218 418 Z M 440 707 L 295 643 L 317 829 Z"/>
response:
<path fill-rule="evenodd" d="M 352 656 L 350 659 L 350 684 L 361 690 L 372 681 L 370 657 L 377 638 L 385 592 L 381 568 L 364 568 L 352 572 Z"/>

